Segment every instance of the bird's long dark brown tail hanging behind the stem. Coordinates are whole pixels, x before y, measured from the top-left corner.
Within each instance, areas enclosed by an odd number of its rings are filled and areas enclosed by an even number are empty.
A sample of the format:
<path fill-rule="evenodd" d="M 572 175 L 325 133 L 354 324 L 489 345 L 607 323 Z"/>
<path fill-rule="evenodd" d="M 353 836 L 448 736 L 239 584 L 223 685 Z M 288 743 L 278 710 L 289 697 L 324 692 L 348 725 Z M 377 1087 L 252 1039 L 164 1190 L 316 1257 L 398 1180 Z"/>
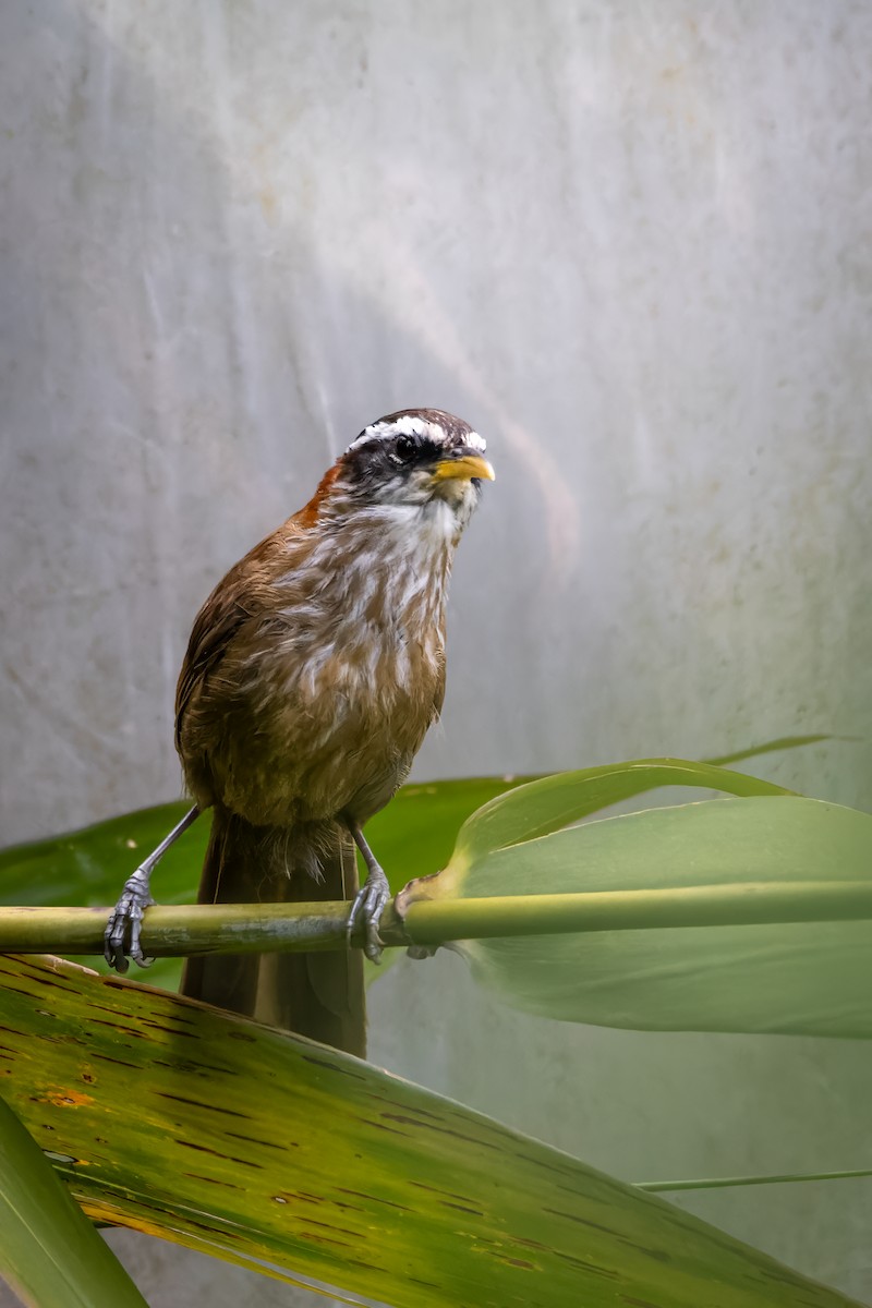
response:
<path fill-rule="evenodd" d="M 320 879 L 307 875 L 318 869 Z M 354 845 L 341 828 L 309 838 L 307 828 L 252 827 L 216 807 L 197 903 L 310 903 L 356 892 Z M 360 950 L 192 957 L 182 994 L 366 1057 Z"/>

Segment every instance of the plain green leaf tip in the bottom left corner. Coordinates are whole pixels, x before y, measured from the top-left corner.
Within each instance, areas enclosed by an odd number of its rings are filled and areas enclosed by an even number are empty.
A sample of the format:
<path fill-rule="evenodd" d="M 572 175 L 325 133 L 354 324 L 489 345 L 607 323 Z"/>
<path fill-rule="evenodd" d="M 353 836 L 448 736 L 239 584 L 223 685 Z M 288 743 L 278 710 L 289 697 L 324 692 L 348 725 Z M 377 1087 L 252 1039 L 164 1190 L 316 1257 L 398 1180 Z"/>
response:
<path fill-rule="evenodd" d="M 4 1057 L 0 1067 L 5 1063 Z M 34 1308 L 146 1308 L 42 1150 L 0 1099 L 3 1281 Z"/>

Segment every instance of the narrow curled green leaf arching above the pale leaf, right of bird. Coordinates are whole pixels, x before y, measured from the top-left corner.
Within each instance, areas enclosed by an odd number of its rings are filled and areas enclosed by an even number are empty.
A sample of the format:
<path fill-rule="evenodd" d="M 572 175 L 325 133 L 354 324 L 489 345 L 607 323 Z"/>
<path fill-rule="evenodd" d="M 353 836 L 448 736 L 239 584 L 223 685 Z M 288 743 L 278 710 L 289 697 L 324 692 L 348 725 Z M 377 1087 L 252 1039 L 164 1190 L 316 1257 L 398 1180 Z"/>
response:
<path fill-rule="evenodd" d="M 637 759 L 560 772 L 516 786 L 468 818 L 451 855 L 451 875 L 461 879 L 471 863 L 495 849 L 546 836 L 600 808 L 662 786 L 703 786 L 732 795 L 790 794 L 769 781 L 686 759 Z"/>

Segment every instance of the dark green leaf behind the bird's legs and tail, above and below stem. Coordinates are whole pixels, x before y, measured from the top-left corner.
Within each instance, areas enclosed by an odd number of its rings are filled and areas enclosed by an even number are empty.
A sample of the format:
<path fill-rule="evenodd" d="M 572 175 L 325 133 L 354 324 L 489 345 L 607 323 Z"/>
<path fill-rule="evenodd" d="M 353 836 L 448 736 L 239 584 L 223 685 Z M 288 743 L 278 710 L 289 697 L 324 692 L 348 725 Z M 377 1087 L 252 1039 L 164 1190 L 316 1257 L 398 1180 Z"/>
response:
<path fill-rule="evenodd" d="M 463 820 L 515 783 L 510 777 L 481 777 L 404 786 L 366 828 L 395 889 L 413 876 L 443 867 Z M 126 878 L 175 827 L 187 807 L 179 802 L 143 808 L 84 831 L 0 852 L 0 903 L 114 904 Z M 153 882 L 161 904 L 196 900 L 208 836 L 209 818 L 204 816 L 163 857 Z M 98 959 L 86 961 L 109 971 Z M 149 985 L 175 990 L 180 972 L 178 959 L 158 959 L 139 977 Z M 367 968 L 367 974 L 377 977 L 379 972 Z"/>

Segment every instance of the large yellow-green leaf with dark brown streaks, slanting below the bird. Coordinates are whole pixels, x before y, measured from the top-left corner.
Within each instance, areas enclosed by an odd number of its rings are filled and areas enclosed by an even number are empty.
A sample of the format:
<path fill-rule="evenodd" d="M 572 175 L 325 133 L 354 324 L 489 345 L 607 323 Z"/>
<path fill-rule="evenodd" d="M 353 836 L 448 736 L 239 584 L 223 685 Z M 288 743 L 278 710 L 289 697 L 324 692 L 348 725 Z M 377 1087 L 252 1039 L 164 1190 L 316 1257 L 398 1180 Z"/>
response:
<path fill-rule="evenodd" d="M 0 981 L 4 1093 L 92 1218 L 397 1308 L 847 1303 L 346 1054 L 61 960 Z"/>

